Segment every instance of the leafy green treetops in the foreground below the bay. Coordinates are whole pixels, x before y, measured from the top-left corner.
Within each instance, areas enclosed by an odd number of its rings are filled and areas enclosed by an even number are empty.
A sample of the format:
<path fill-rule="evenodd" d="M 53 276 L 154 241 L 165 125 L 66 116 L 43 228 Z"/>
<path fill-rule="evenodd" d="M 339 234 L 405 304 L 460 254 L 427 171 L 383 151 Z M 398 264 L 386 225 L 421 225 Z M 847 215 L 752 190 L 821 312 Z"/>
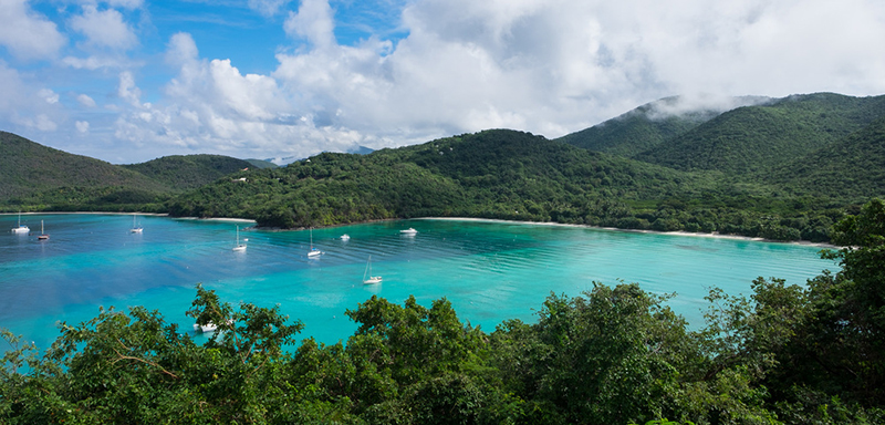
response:
<path fill-rule="evenodd" d="M 885 203 L 836 226 L 842 271 L 808 287 L 712 290 L 691 331 L 637 284 L 551 294 L 537 323 L 487 333 L 442 300 L 373 297 L 345 343 L 295 345 L 278 308 L 197 287 L 204 344 L 143 308 L 62 324 L 45 353 L 11 344 L 0 422 L 836 424 L 885 421 Z M 675 421 L 675 422 L 674 422 Z"/>

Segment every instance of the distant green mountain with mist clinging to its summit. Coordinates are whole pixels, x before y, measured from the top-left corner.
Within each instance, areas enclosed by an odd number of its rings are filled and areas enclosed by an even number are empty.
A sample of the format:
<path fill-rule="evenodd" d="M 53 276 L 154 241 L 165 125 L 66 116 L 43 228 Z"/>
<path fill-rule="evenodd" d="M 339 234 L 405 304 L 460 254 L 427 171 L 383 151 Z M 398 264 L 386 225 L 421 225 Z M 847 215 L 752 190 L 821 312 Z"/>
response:
<path fill-rule="evenodd" d="M 737 104 L 748 104 L 764 100 L 764 97 L 739 97 L 732 101 Z M 686 102 L 678 96 L 662 99 L 556 141 L 631 158 L 685 134 L 722 113 L 720 108 L 687 106 Z"/>

